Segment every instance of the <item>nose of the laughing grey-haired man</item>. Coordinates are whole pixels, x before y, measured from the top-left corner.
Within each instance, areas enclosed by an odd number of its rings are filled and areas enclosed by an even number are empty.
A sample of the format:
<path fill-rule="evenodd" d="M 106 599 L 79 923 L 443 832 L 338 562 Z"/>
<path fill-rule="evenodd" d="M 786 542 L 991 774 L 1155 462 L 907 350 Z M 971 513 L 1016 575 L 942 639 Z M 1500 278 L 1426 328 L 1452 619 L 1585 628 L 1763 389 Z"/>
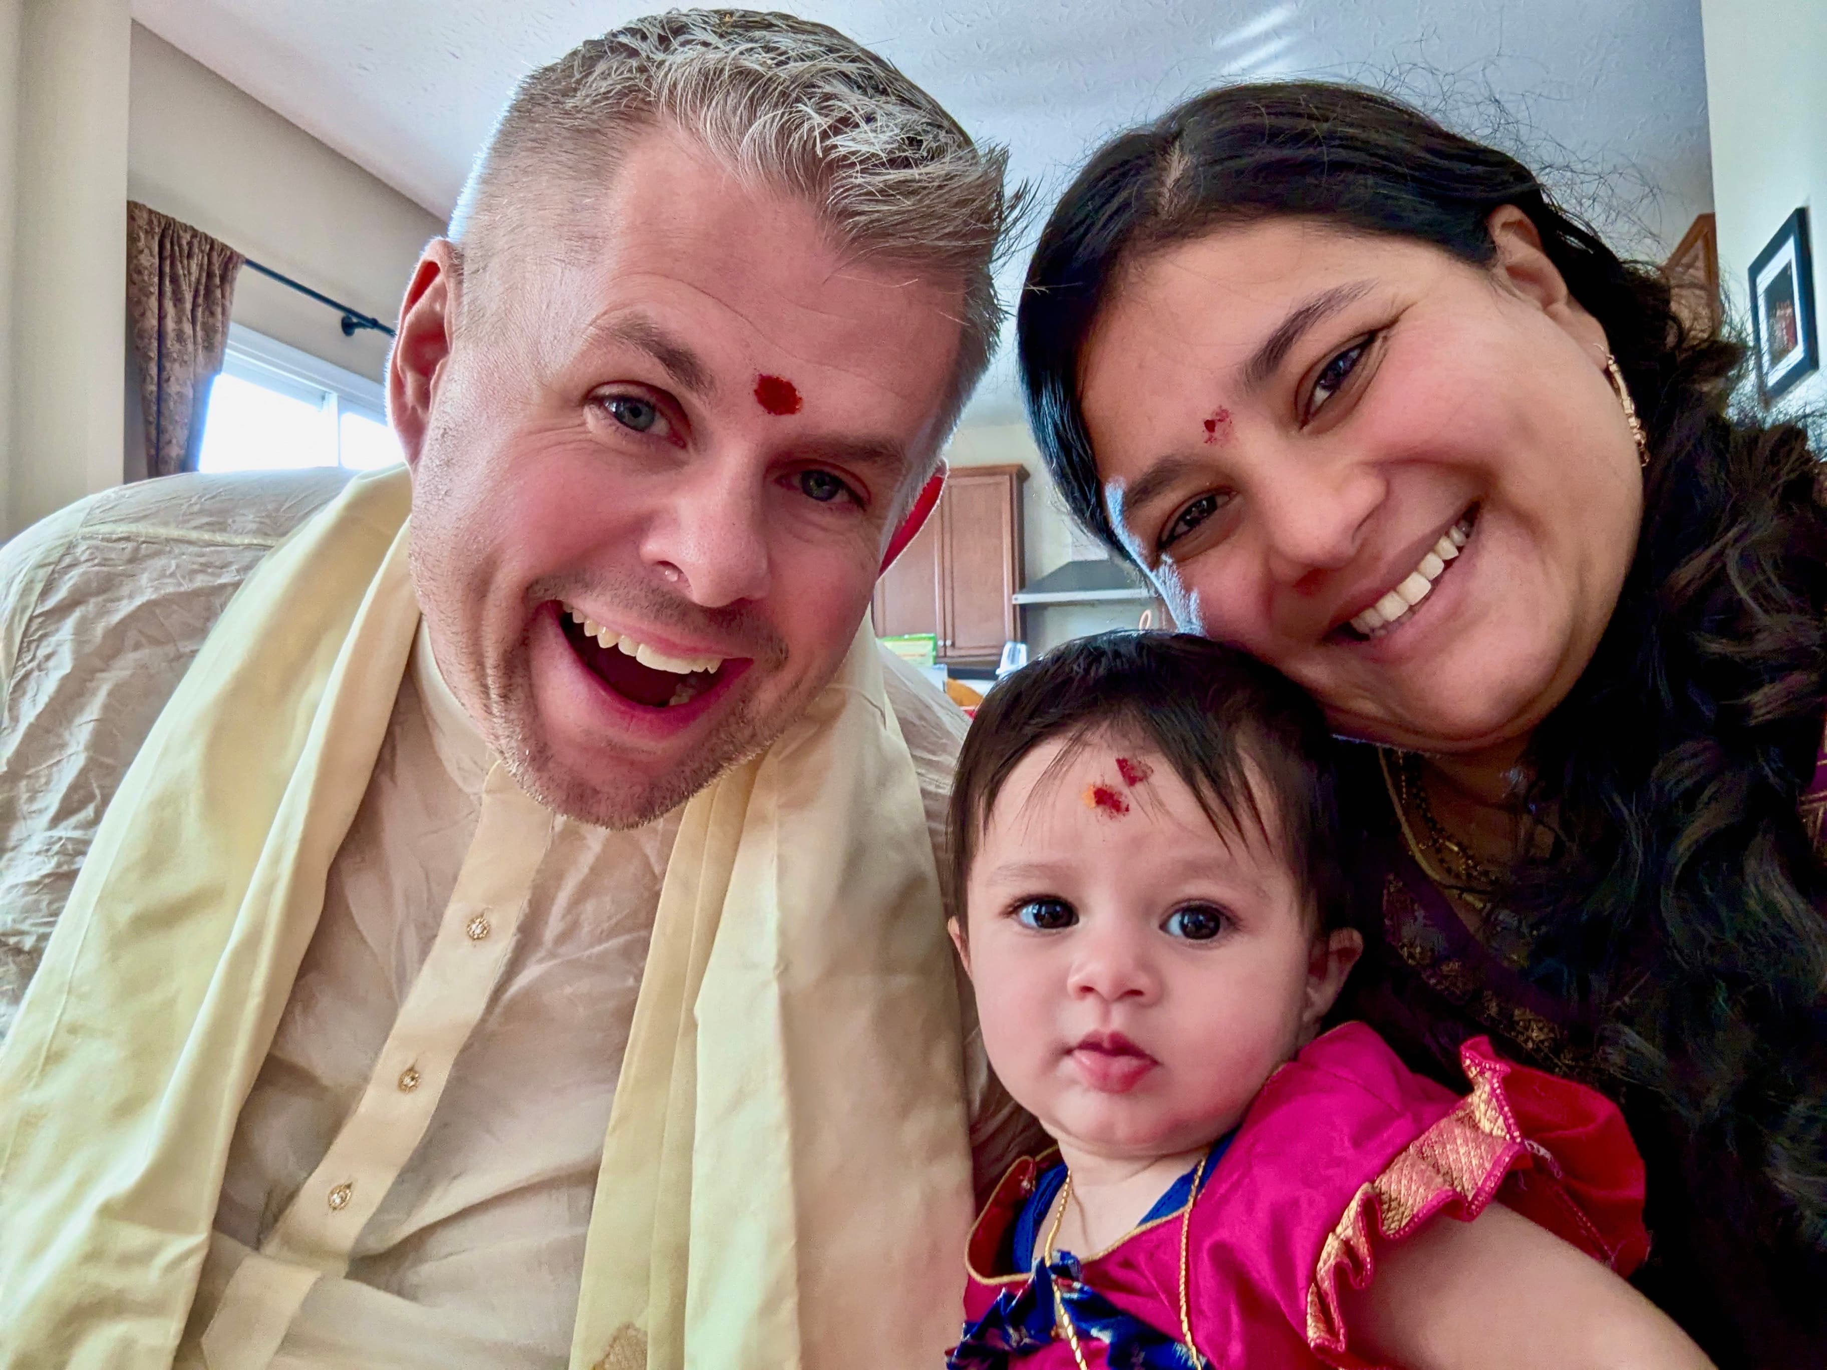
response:
<path fill-rule="evenodd" d="M 769 590 L 767 490 L 745 466 L 713 460 L 681 471 L 641 546 L 643 561 L 703 608 Z"/>

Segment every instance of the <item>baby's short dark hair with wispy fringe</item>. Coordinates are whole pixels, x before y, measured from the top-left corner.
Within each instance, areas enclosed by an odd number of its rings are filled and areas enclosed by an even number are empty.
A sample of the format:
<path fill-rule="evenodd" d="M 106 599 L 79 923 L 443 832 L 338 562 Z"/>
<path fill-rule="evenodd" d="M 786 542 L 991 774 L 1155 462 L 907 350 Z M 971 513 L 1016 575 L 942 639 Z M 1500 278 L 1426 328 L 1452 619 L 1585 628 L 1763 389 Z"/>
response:
<path fill-rule="evenodd" d="M 1323 932 L 1350 924 L 1334 749 L 1308 694 L 1272 667 L 1206 638 L 1104 632 L 1047 652 L 988 692 L 952 782 L 952 908 L 965 924 L 965 882 L 1009 776 L 1051 738 L 1116 732 L 1160 754 L 1219 831 L 1270 831 L 1257 776 L 1273 804 L 1281 855 Z"/>

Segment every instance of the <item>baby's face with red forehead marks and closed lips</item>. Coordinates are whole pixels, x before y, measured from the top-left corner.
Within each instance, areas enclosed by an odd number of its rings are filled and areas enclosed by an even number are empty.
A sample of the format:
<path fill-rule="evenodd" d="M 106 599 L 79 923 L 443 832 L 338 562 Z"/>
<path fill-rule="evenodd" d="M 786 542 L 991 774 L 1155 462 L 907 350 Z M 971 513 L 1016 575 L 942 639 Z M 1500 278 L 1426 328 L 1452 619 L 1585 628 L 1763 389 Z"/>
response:
<path fill-rule="evenodd" d="M 1345 970 L 1261 791 L 1268 835 L 1246 817 L 1220 837 L 1164 760 L 1093 738 L 1054 771 L 1060 751 L 1021 760 L 972 862 L 959 950 L 985 1049 L 1082 1153 L 1204 1147 L 1310 1036 Z"/>

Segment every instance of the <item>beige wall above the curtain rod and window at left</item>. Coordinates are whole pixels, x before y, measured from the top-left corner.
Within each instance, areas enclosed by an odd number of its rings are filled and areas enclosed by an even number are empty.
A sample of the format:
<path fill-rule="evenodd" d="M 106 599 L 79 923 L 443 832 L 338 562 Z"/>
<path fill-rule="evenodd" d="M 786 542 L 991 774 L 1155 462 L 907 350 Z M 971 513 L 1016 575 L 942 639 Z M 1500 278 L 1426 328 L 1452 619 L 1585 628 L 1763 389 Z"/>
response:
<path fill-rule="evenodd" d="M 444 223 L 150 29 L 133 26 L 128 194 L 393 323 Z M 234 320 L 380 380 L 387 338 L 243 270 Z"/>

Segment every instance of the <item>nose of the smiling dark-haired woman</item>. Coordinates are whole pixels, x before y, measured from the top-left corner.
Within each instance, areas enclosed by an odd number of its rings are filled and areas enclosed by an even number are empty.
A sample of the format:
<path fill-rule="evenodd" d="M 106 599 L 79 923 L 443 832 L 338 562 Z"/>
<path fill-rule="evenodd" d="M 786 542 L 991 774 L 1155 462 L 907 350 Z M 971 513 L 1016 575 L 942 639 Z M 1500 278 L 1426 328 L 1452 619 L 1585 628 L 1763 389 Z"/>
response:
<path fill-rule="evenodd" d="M 1270 577 L 1299 588 L 1348 566 L 1385 491 L 1383 475 L 1365 462 L 1314 460 L 1312 453 L 1275 462 L 1246 495 L 1253 495 Z"/>

